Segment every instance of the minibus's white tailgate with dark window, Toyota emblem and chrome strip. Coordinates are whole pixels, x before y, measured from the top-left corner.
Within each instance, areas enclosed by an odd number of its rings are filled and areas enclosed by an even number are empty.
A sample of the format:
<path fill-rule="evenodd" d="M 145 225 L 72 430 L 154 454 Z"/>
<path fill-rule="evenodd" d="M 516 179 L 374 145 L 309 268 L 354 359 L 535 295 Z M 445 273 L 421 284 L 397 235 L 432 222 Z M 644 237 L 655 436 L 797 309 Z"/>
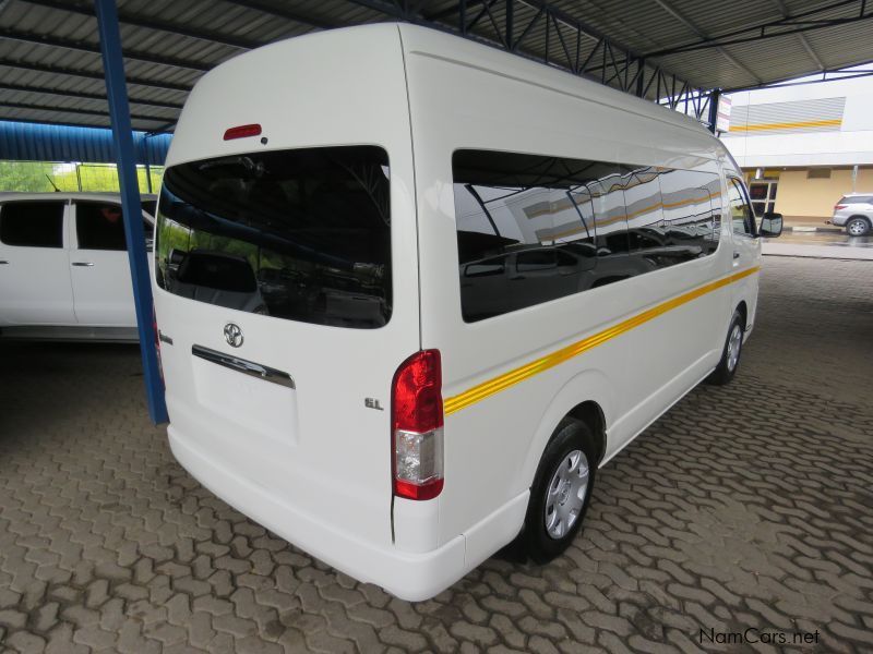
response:
<path fill-rule="evenodd" d="M 378 146 L 181 164 L 156 233 L 170 436 L 384 544 L 392 377 L 419 348 L 415 220 L 395 184 Z"/>

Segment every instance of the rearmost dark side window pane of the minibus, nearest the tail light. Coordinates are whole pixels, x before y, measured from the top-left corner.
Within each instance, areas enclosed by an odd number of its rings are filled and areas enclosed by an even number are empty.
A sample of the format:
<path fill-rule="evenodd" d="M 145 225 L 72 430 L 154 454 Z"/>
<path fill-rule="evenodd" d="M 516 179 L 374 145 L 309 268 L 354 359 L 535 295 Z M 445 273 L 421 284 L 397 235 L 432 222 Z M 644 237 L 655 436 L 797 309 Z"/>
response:
<path fill-rule="evenodd" d="M 590 161 L 459 150 L 452 165 L 461 304 L 468 323 L 590 287 Z M 623 214 L 623 207 L 622 207 Z"/>

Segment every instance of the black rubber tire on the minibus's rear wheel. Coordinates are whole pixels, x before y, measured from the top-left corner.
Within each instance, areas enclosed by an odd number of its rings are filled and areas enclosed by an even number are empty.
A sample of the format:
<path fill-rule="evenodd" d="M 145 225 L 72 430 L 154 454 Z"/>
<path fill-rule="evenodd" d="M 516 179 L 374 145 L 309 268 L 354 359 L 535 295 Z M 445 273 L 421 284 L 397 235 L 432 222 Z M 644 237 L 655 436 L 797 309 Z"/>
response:
<path fill-rule="evenodd" d="M 584 493 L 584 498 L 570 528 L 565 528 L 562 535 L 555 537 L 549 533 L 546 523 L 547 502 L 550 499 L 549 487 L 558 474 L 559 465 L 569 461 L 572 452 L 582 452 L 587 463 L 587 480 L 584 491 L 581 492 Z M 536 562 L 545 564 L 559 556 L 579 533 L 594 489 L 597 472 L 595 456 L 594 438 L 588 426 L 584 422 L 571 417 L 561 421 L 549 445 L 546 446 L 546 451 L 542 452 L 542 459 L 540 459 L 537 474 L 534 477 L 534 485 L 530 487 L 525 526 L 519 536 L 524 550 Z M 582 459 L 578 461 L 582 462 Z M 570 468 L 565 469 L 565 472 L 569 470 Z M 581 475 L 579 479 L 582 479 Z M 569 497 L 564 501 L 567 500 L 572 502 Z"/>

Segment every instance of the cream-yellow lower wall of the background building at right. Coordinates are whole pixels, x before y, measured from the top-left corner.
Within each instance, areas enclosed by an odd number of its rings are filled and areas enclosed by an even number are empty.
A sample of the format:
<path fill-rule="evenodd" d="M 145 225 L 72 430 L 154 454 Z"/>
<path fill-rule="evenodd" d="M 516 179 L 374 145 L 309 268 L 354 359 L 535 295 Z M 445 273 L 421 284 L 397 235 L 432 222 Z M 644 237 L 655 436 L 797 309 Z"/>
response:
<path fill-rule="evenodd" d="M 830 217 L 834 205 L 852 191 L 851 168 L 832 169 L 830 179 L 808 179 L 806 170 L 782 170 L 776 193 L 776 211 L 785 216 Z M 856 192 L 873 193 L 873 168 L 860 168 Z"/>

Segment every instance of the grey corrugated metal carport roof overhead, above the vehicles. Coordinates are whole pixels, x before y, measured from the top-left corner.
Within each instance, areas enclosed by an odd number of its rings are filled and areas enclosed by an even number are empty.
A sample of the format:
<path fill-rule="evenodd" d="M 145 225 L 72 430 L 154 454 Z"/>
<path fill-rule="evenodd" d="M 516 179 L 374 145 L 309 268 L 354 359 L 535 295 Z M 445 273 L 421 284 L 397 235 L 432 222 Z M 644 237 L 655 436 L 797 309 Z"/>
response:
<path fill-rule="evenodd" d="M 171 129 L 196 80 L 247 49 L 318 29 L 395 20 L 390 14 L 405 4 L 118 0 L 133 126 Z M 418 7 L 420 21 L 459 27 L 457 0 L 409 4 Z M 577 58 L 584 61 L 597 44 L 590 36 L 576 41 L 566 23 L 533 22 L 542 5 L 539 0 L 510 4 L 513 39 L 525 33 L 521 53 L 545 59 L 548 44 L 549 61 L 570 66 Z M 553 0 L 549 5 L 583 24 L 587 35 L 607 36 L 618 61 L 626 50 L 705 89 L 755 86 L 873 61 L 873 2 L 862 0 L 732 0 L 718 5 L 698 0 Z M 505 37 L 507 2 L 467 0 L 466 7 L 468 22 L 480 15 L 473 35 L 490 41 Z M 785 23 L 808 12 L 815 13 L 803 24 Z M 842 23 L 815 23 L 823 20 Z M 762 26 L 767 34 L 804 31 L 760 39 Z M 97 38 L 93 4 L 86 0 L 0 1 L 0 119 L 108 126 Z M 597 51 L 594 61 L 600 57 Z M 602 68 L 595 66 L 594 74 Z M 648 97 L 655 93 L 649 89 Z"/>

